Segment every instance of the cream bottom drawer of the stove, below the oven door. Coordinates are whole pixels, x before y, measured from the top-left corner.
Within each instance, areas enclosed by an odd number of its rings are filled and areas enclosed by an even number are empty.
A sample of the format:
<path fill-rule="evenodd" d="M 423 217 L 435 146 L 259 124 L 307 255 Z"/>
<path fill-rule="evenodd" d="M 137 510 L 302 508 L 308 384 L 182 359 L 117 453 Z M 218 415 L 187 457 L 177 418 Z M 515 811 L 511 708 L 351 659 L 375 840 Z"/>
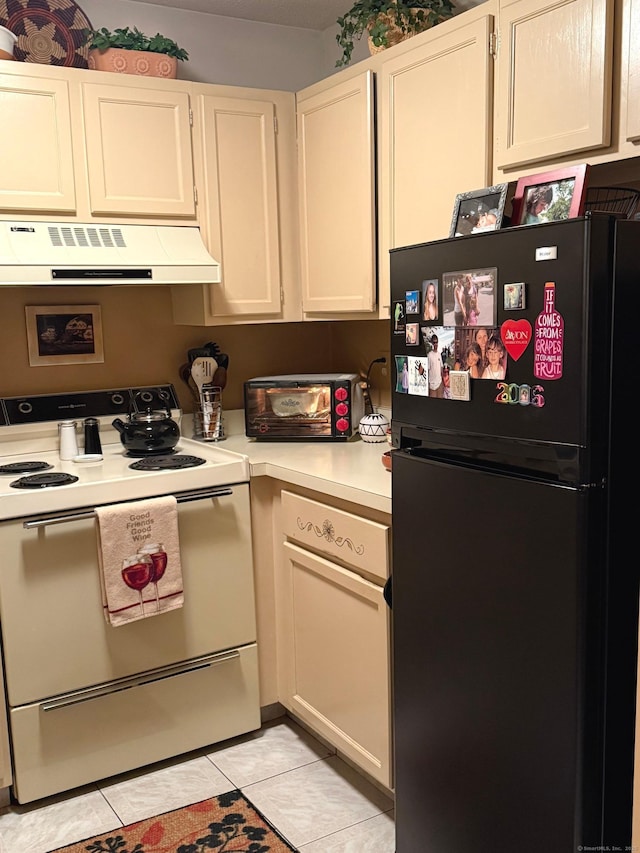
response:
<path fill-rule="evenodd" d="M 148 680 L 130 689 L 103 685 L 114 692 L 99 689 L 85 701 L 66 694 L 11 711 L 20 803 L 260 727 L 255 645 L 190 661 L 172 675 L 158 670 L 139 678 Z"/>

